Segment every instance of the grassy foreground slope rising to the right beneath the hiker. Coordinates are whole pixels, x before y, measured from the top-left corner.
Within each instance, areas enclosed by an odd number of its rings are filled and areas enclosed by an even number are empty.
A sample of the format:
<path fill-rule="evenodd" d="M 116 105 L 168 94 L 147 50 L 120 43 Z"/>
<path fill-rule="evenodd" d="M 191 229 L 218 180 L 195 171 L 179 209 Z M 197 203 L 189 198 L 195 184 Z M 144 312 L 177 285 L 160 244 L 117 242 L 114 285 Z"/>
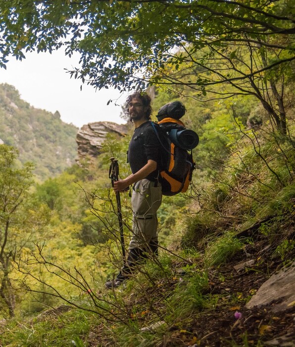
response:
<path fill-rule="evenodd" d="M 203 329 L 212 322 L 204 317 L 234 319 L 235 310 L 259 288 L 257 279 L 268 279 L 294 259 L 291 148 L 288 139 L 268 138 L 255 148 L 245 141 L 243 151 L 223 163 L 194 201 L 196 211 L 183 228 L 181 244 L 171 245 L 173 253 L 160 248 L 158 258 L 141 264 L 118 289 L 107 290 L 96 278 L 94 288 L 66 305 L 0 322 L 0 346 L 204 346 L 192 328 L 200 319 Z M 252 262 L 242 283 L 229 268 L 231 262 L 249 260 L 249 254 Z M 247 346 L 247 331 L 239 339 L 231 330 L 224 346 Z M 260 339 L 252 346 L 262 346 Z"/>

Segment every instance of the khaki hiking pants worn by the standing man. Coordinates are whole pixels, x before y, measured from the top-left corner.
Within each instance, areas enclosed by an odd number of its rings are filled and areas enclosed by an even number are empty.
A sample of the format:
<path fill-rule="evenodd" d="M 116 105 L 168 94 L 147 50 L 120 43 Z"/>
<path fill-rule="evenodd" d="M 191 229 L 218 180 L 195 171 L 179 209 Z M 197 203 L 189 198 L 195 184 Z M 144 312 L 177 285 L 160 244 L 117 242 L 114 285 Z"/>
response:
<path fill-rule="evenodd" d="M 155 186 L 157 185 L 157 186 Z M 131 204 L 133 210 L 133 236 L 129 243 L 132 248 L 148 249 L 150 241 L 157 242 L 157 210 L 162 202 L 162 187 L 144 178 L 134 184 Z"/>

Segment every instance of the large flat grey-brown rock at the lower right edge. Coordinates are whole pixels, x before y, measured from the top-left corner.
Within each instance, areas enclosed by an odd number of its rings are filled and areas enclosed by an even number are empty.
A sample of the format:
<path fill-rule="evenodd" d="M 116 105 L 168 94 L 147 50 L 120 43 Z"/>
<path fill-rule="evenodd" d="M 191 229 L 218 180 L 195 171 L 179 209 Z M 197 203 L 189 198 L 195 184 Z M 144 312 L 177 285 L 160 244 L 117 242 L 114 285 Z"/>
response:
<path fill-rule="evenodd" d="M 246 304 L 246 308 L 267 305 L 273 312 L 285 311 L 295 306 L 295 262 L 283 268 L 263 283 Z"/>

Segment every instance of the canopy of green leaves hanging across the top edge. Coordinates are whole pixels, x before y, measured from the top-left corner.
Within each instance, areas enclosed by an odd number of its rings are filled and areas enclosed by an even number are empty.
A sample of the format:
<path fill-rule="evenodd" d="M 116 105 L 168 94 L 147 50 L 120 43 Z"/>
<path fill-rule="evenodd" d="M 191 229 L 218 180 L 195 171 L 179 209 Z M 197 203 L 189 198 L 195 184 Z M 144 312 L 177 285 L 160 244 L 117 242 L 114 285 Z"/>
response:
<path fill-rule="evenodd" d="M 5 24 L 2 64 L 10 54 L 21 59 L 30 50 L 51 52 L 64 45 L 66 54 L 81 54 L 80 77 L 89 77 L 98 88 L 119 84 L 129 88 L 150 78 L 156 82 L 168 62 L 177 66 L 186 59 L 173 53 L 177 47 L 190 55 L 228 43 L 283 50 L 266 70 L 294 59 L 289 56 L 294 52 L 289 36 L 295 33 L 290 0 L 4 0 L 0 9 Z"/>

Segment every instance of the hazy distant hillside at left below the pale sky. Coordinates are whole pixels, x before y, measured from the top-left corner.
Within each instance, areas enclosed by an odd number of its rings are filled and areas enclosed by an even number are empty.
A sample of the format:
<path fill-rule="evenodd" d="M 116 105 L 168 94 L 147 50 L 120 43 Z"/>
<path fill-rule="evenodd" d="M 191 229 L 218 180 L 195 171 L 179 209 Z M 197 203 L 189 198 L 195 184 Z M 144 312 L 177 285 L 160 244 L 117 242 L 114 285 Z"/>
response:
<path fill-rule="evenodd" d="M 19 150 L 21 163 L 35 164 L 34 173 L 43 180 L 75 163 L 77 127 L 54 114 L 35 109 L 8 84 L 0 85 L 0 139 Z"/>

